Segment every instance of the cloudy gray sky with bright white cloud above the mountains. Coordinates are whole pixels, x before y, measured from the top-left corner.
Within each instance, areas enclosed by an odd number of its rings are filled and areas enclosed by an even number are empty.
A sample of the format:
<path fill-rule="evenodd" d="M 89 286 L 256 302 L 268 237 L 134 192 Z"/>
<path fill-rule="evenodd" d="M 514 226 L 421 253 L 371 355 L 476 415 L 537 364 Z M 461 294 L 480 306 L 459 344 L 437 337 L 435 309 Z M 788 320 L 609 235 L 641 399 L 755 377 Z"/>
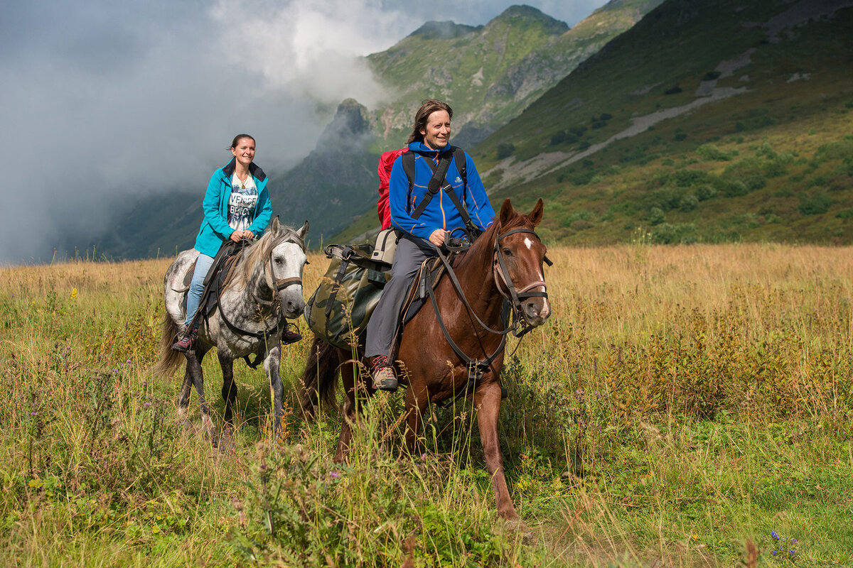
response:
<path fill-rule="evenodd" d="M 606 0 L 529 0 L 570 26 Z M 359 56 L 428 20 L 485 24 L 512 2 L 27 0 L 0 7 L 0 265 L 84 246 L 142 195 L 199 200 L 234 135 L 281 171 L 330 112 L 383 92 Z M 189 208 L 194 204 L 176 203 Z M 187 227 L 188 232 L 197 227 Z M 60 257 L 74 251 L 58 250 Z"/>

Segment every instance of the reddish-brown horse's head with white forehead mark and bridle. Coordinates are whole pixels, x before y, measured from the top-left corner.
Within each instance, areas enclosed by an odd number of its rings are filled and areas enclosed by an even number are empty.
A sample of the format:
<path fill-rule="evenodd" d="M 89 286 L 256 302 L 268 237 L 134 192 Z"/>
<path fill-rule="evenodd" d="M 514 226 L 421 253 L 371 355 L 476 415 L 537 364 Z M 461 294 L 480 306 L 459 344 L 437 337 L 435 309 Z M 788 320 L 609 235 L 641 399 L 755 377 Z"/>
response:
<path fill-rule="evenodd" d="M 529 215 L 516 211 L 509 199 L 498 215 L 495 237 L 494 273 L 497 289 L 512 301 L 519 315 L 531 327 L 542 325 L 551 314 L 545 288 L 543 262 L 547 249 L 534 229 L 542 221 L 543 201 L 539 199 Z"/>

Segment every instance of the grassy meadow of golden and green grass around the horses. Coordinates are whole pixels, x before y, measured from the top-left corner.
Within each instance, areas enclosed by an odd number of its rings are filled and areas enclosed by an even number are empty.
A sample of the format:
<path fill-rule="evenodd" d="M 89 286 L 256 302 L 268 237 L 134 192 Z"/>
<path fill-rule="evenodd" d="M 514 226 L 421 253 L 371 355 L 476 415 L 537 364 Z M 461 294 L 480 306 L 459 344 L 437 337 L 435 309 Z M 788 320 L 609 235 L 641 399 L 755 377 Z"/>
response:
<path fill-rule="evenodd" d="M 548 253 L 554 314 L 503 373 L 520 527 L 470 402 L 433 409 L 412 457 L 403 394 L 380 393 L 336 466 L 336 411 L 299 413 L 302 341 L 281 439 L 263 371 L 235 364 L 220 454 L 176 422 L 180 377 L 150 371 L 171 259 L 0 269 L 0 565 L 853 564 L 853 250 L 635 236 Z"/>

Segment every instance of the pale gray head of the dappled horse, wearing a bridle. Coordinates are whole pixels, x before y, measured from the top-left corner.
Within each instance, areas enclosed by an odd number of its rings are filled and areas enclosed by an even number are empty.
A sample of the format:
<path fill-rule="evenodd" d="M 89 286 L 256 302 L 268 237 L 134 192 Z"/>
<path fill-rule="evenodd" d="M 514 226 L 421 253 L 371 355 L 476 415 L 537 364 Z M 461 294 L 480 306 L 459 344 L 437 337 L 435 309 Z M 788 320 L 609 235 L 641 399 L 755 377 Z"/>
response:
<path fill-rule="evenodd" d="M 281 301 L 281 313 L 286 318 L 297 318 L 305 309 L 302 297 L 302 268 L 308 262 L 305 255 L 305 235 L 308 221 L 298 231 L 281 225 L 276 216 L 270 222 L 270 253 L 264 270 L 267 285 Z"/>

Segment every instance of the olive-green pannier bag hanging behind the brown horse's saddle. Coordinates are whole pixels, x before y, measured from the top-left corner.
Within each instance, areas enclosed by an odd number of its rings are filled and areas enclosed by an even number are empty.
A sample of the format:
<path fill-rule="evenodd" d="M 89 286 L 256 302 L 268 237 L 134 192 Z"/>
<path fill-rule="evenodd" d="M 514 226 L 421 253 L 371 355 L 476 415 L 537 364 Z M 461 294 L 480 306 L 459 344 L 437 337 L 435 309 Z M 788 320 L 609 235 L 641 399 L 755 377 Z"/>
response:
<path fill-rule="evenodd" d="M 329 244 L 322 282 L 305 303 L 305 321 L 324 341 L 350 349 L 363 344 L 368 319 L 391 279 L 391 265 L 371 260 L 373 244 Z"/>

